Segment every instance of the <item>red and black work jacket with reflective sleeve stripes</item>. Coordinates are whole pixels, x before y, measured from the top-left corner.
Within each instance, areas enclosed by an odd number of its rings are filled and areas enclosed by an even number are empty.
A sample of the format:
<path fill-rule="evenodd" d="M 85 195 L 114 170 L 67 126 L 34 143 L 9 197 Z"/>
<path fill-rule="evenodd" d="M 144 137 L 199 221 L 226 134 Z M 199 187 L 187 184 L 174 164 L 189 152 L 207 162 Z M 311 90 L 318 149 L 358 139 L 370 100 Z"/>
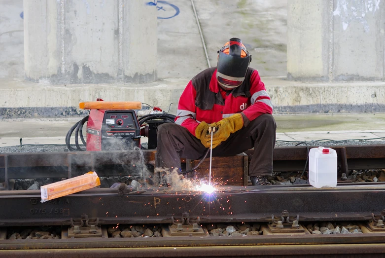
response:
<path fill-rule="evenodd" d="M 235 113 L 242 113 L 244 126 L 261 114 L 272 114 L 273 105 L 265 84 L 257 70 L 249 67 L 241 86 L 226 92 L 218 85 L 216 67 L 213 67 L 197 74 L 187 84 L 179 99 L 175 123 L 195 136 L 200 122 L 218 122 Z"/>

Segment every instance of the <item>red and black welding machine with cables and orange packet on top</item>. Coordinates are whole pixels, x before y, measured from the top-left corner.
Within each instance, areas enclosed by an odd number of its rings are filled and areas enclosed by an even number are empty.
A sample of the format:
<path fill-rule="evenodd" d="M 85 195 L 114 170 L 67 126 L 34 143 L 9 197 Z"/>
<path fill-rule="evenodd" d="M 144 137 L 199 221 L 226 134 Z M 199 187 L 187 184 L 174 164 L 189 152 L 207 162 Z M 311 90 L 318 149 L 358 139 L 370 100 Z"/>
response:
<path fill-rule="evenodd" d="M 70 151 L 83 150 L 78 136 L 86 150 L 126 150 L 141 147 L 140 137 L 148 137 L 148 148 L 156 148 L 156 128 L 165 122 L 174 122 L 175 115 L 153 113 L 143 115 L 138 120 L 135 110 L 141 109 L 140 102 L 107 102 L 97 99 L 94 102 L 79 104 L 80 109 L 90 110 L 90 114 L 74 124 L 66 136 L 66 145 Z M 160 110 L 161 111 L 161 110 Z M 83 137 L 83 125 L 87 121 L 86 141 Z M 147 123 L 142 126 L 143 123 Z M 150 126 L 149 126 L 150 125 Z M 155 126 L 154 126 L 155 125 Z M 142 127 L 142 128 L 141 128 Z M 75 131 L 75 146 L 70 145 L 70 137 Z"/>

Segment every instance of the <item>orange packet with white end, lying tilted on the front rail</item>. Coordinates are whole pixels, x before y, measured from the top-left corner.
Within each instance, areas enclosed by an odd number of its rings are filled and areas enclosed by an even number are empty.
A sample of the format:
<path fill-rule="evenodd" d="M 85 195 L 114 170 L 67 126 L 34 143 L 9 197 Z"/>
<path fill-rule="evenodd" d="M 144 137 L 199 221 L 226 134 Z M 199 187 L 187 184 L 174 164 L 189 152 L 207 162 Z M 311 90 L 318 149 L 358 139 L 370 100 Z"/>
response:
<path fill-rule="evenodd" d="M 100 179 L 95 172 L 88 172 L 82 176 L 66 179 L 53 184 L 40 187 L 41 202 L 46 202 L 55 198 L 91 189 L 100 185 Z"/>

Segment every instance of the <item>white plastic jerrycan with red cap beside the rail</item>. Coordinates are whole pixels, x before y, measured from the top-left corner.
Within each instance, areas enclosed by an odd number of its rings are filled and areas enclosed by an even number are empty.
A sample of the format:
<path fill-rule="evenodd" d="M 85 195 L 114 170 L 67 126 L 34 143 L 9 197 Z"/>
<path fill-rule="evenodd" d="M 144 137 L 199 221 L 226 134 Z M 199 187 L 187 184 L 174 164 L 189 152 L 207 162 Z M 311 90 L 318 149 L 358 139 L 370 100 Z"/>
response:
<path fill-rule="evenodd" d="M 318 147 L 309 151 L 309 183 L 316 188 L 337 185 L 337 152 Z"/>

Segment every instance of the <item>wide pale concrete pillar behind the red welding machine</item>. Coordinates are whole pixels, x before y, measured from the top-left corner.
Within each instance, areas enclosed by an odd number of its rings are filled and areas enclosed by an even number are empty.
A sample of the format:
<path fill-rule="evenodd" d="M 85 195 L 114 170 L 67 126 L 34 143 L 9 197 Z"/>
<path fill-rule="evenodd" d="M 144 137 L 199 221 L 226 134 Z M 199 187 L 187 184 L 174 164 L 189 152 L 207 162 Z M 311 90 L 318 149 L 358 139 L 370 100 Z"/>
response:
<path fill-rule="evenodd" d="M 24 0 L 26 79 L 45 84 L 156 80 L 149 0 Z"/>

